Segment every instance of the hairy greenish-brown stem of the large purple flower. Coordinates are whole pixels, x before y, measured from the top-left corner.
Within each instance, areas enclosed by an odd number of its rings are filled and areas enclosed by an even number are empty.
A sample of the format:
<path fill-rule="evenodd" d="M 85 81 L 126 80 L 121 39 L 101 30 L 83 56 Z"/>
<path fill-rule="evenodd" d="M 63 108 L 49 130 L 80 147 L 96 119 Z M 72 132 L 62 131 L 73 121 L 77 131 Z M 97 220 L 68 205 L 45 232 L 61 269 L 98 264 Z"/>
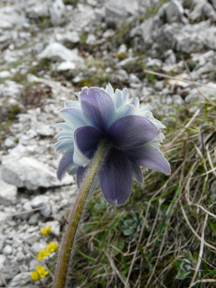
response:
<path fill-rule="evenodd" d="M 103 143 L 98 148 L 93 162 L 88 168 L 88 172 L 80 188 L 79 194 L 76 198 L 76 202 L 73 205 L 72 211 L 68 217 L 68 225 L 63 236 L 61 250 L 58 256 L 53 288 L 63 288 L 65 286 L 71 251 L 73 248 L 73 243 L 76 236 L 77 227 L 80 222 L 80 217 L 82 215 L 83 207 L 85 205 L 88 193 L 91 190 L 91 186 L 93 184 L 95 176 L 98 172 L 98 168 L 101 165 L 101 161 L 106 156 L 107 150 L 107 143 Z"/>

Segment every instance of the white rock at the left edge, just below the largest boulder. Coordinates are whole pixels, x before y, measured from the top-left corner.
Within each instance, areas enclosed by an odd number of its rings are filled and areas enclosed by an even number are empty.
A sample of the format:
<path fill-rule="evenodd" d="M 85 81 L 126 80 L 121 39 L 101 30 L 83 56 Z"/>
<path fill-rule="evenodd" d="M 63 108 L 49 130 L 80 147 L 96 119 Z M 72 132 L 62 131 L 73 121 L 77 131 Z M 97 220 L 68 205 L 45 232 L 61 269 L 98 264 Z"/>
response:
<path fill-rule="evenodd" d="M 16 202 L 17 187 L 10 185 L 0 179 L 0 202 L 3 205 L 8 206 L 11 203 Z"/>

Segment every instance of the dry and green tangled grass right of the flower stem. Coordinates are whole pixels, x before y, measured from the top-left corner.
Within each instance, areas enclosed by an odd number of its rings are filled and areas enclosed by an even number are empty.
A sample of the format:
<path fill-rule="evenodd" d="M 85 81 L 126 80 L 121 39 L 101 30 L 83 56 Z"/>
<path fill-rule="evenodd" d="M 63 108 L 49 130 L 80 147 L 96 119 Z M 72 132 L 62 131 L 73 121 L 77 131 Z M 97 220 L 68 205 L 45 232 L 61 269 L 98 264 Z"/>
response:
<path fill-rule="evenodd" d="M 70 287 L 214 287 L 215 106 L 199 103 L 195 113 L 176 108 L 173 115 L 163 144 L 171 176 L 145 172 L 144 186 L 134 182 L 118 208 L 94 193 Z"/>

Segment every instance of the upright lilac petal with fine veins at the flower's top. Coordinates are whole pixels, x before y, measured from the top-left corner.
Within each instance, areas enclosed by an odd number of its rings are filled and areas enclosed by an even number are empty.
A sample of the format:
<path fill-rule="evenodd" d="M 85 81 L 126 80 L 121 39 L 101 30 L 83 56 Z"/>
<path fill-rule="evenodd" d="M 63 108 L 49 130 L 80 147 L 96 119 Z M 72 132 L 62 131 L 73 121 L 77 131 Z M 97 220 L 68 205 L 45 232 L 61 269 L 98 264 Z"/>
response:
<path fill-rule="evenodd" d="M 104 131 L 116 120 L 116 107 L 106 91 L 97 88 L 84 88 L 80 93 L 83 115 L 92 126 Z"/>

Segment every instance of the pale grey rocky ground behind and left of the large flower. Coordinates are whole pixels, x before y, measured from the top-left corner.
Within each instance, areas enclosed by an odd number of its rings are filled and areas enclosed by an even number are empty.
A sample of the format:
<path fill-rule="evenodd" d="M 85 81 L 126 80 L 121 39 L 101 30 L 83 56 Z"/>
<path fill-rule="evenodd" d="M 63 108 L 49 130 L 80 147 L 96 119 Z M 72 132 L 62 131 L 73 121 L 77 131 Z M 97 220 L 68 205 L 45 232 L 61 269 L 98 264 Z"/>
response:
<path fill-rule="evenodd" d="M 0 19 L 0 286 L 15 287 L 32 283 L 40 228 L 59 241 L 76 197 L 72 176 L 56 179 L 63 102 L 110 81 L 169 125 L 173 106 L 205 101 L 193 84 L 146 70 L 192 77 L 213 97 L 216 1 L 1 0 Z"/>

